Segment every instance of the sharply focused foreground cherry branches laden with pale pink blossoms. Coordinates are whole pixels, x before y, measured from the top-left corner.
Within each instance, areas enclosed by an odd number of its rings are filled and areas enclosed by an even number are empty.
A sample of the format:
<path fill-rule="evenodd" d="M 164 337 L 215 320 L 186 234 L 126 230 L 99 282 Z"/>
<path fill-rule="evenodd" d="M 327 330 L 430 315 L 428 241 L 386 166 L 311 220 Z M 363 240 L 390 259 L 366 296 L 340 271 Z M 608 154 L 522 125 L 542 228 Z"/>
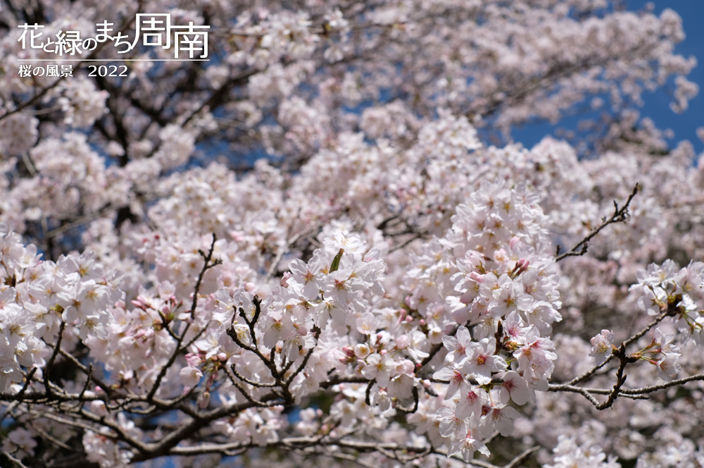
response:
<path fill-rule="evenodd" d="M 114 277 L 89 255 L 40 261 L 7 233 L 8 254 L 0 265 L 5 283 L 14 286 L 0 300 L 6 304 L 6 346 L 14 347 L 5 362 L 13 383 L 0 398 L 14 405 L 8 415 L 15 421 L 65 426 L 80 436 L 89 460 L 116 466 L 255 448 L 328 456 L 337 446 L 401 463 L 443 455 L 491 467 L 474 460 L 474 452 L 491 456 L 493 434 L 510 436 L 520 408 L 536 403 L 536 394 L 581 393 L 598 410 L 618 397 L 647 398 L 669 387 L 644 387 L 643 393 L 627 388 L 627 366 L 647 361 L 663 378 L 677 374 L 679 347 L 658 325 L 686 324 L 700 342 L 696 304 L 704 264 L 681 271 L 650 266 L 632 290 L 655 319 L 620 347 L 613 346 L 614 333 L 603 331 L 592 340 L 596 367 L 564 385 L 551 383 L 557 357 L 551 324 L 561 319 L 558 275 L 543 242 L 549 233 L 540 225 L 541 209 L 525 190 L 486 185 L 460 205 L 443 241 L 428 240 L 410 258 L 400 300 L 384 289 L 379 248 L 339 232 L 323 238 L 307 261 L 293 259 L 268 288 L 244 281 L 215 288 L 213 277 L 225 284 L 222 274 L 232 266 L 225 242 L 203 236 L 203 248 L 191 247 L 197 255 L 184 266 L 192 293 L 161 281 L 137 295 L 132 309 Z M 494 252 L 484 245 L 490 229 Z M 57 271 L 61 282 L 47 288 L 48 275 Z M 25 301 L 13 288 L 36 294 L 56 288 L 56 302 L 39 307 L 42 302 Z M 25 309 L 38 319 L 21 314 Z M 653 328 L 651 343 L 627 354 L 626 347 Z M 40 338 L 32 333 L 37 330 Z M 76 336 L 89 360 L 77 357 Z M 42 355 L 46 362 L 27 360 Z M 612 389 L 577 386 L 612 361 L 619 362 Z M 84 380 L 62 388 L 53 371 L 59 364 L 75 367 Z M 308 408 L 294 428 L 285 429 L 287 408 L 323 392 L 334 398 L 327 414 Z M 183 419 L 168 432 L 147 422 L 173 414 Z M 408 428 L 421 428 L 424 440 L 417 446 L 379 441 L 364 429 L 369 418 L 399 418 Z M 32 430 L 29 423 L 23 427 Z M 41 436 L 29 433 L 32 440 Z M 13 437 L 20 436 L 26 434 Z M 49 436 L 57 442 L 46 438 L 54 450 L 65 450 L 60 435 Z"/>

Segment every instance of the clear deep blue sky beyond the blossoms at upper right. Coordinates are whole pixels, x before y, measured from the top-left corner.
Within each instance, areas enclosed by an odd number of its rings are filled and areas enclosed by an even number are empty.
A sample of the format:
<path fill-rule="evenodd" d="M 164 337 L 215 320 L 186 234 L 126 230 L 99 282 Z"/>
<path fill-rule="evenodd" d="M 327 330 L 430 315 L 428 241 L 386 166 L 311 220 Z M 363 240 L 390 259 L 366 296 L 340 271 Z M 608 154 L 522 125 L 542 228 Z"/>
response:
<path fill-rule="evenodd" d="M 648 3 L 646 0 L 627 0 L 629 10 L 638 11 Z M 696 136 L 696 129 L 704 126 L 704 1 L 702 0 L 654 0 L 655 14 L 665 8 L 677 11 L 682 18 L 686 38 L 677 44 L 675 51 L 685 57 L 694 56 L 698 65 L 688 75 L 688 79 L 696 82 L 699 94 L 689 101 L 689 109 L 683 113 L 674 113 L 670 110 L 670 97 L 662 89 L 643 94 L 644 105 L 641 108 L 641 117 L 653 119 L 655 125 L 664 130 L 671 128 L 674 138 L 668 140 L 670 147 L 677 145 L 681 140 L 689 140 L 697 153 L 704 151 L 704 143 Z M 591 116 L 589 116 L 591 117 Z M 567 118 L 558 125 L 549 123 L 526 125 L 513 131 L 512 136 L 516 142 L 521 142 L 525 147 L 531 148 L 543 136 L 553 133 L 555 128 L 574 128 L 577 122 L 584 118 Z"/>

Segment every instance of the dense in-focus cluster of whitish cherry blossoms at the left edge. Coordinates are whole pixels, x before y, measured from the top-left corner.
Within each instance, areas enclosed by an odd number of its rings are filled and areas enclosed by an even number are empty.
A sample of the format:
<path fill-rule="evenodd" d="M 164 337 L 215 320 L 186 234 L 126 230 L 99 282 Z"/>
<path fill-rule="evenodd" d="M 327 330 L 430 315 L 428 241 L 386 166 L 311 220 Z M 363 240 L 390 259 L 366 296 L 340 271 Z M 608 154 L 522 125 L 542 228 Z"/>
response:
<path fill-rule="evenodd" d="M 34 245 L 0 227 L 0 391 L 22 383 L 25 369 L 41 369 L 51 356 L 47 343 L 66 339 L 105 338 L 108 307 L 120 297 L 114 273 L 104 271 L 94 255 L 70 254 L 42 261 Z M 64 327 L 68 326 L 66 336 Z M 55 356 L 54 356 L 55 357 Z"/>

